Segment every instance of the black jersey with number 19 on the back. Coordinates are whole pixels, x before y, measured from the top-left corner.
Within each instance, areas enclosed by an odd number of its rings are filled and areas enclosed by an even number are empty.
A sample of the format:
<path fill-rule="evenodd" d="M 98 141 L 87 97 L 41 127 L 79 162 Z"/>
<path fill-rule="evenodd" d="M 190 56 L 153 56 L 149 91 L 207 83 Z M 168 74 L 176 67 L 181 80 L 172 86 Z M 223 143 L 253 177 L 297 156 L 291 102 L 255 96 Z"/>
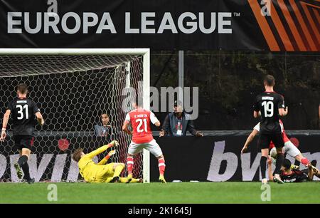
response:
<path fill-rule="evenodd" d="M 257 95 L 254 110 L 261 112 L 261 134 L 282 133 L 279 125 L 279 108 L 284 108 L 282 95 L 274 92 Z"/>

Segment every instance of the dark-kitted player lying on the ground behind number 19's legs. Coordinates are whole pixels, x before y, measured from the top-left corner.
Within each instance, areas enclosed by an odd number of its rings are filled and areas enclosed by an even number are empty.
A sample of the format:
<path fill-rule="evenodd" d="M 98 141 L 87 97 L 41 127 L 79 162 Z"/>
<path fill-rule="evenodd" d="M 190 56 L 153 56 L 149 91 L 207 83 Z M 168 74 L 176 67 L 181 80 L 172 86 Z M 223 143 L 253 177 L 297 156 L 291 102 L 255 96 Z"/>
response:
<path fill-rule="evenodd" d="M 268 174 L 270 181 L 273 181 L 274 177 L 272 175 L 272 160 L 271 157 L 268 158 Z M 288 159 L 284 159 L 280 178 L 283 182 L 303 182 L 306 180 L 314 180 L 314 175 L 320 178 L 320 171 L 313 167 L 311 163 L 308 164 L 308 168 L 305 170 L 292 170 L 292 163 Z"/>

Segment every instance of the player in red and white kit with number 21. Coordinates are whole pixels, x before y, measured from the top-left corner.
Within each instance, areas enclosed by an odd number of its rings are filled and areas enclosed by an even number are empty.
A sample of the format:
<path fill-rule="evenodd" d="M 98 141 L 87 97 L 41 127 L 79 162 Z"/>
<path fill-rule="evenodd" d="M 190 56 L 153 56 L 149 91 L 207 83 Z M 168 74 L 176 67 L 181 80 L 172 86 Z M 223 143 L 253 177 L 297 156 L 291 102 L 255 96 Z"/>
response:
<path fill-rule="evenodd" d="M 152 136 L 150 122 L 160 126 L 160 121 L 156 118 L 154 113 L 149 110 L 142 108 L 139 105 L 142 101 L 135 100 L 132 103 L 134 110 L 127 113 L 122 126 L 122 130 L 129 135 L 132 135 L 132 141 L 129 145 L 128 156 L 127 156 L 127 170 L 128 170 L 128 181 L 132 179 L 132 169 L 134 165 L 134 155 L 142 152 L 143 149 L 149 150 L 159 162 L 159 182 L 166 183 L 164 179 L 164 170 L 166 164 L 164 162 L 164 155 L 162 154 L 161 148 L 154 140 Z M 129 130 L 129 124 L 132 125 L 132 132 Z"/>

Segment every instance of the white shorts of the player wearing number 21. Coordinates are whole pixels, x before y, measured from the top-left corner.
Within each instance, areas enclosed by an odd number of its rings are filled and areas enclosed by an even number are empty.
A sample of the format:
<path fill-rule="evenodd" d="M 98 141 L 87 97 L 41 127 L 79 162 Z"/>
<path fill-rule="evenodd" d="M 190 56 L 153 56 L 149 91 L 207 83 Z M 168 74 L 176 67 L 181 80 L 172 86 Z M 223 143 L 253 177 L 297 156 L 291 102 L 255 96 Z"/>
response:
<path fill-rule="evenodd" d="M 128 153 L 129 155 L 137 155 L 139 152 L 142 152 L 143 149 L 149 150 L 149 152 L 151 152 L 155 157 L 160 157 L 162 155 L 162 150 L 158 143 L 156 143 L 156 140 L 151 140 L 151 142 L 141 144 L 131 142 Z"/>

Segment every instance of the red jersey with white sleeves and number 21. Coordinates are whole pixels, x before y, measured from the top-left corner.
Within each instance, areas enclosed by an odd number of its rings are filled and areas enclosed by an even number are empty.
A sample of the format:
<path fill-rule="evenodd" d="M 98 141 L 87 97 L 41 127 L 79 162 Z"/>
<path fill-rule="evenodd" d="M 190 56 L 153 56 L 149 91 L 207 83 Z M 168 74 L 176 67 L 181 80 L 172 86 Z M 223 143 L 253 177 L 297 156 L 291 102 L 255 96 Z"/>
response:
<path fill-rule="evenodd" d="M 142 144 L 154 139 L 150 122 L 154 124 L 158 122 L 158 119 L 151 111 L 140 108 L 132 110 L 127 113 L 125 122 L 132 125 L 132 142 Z"/>

